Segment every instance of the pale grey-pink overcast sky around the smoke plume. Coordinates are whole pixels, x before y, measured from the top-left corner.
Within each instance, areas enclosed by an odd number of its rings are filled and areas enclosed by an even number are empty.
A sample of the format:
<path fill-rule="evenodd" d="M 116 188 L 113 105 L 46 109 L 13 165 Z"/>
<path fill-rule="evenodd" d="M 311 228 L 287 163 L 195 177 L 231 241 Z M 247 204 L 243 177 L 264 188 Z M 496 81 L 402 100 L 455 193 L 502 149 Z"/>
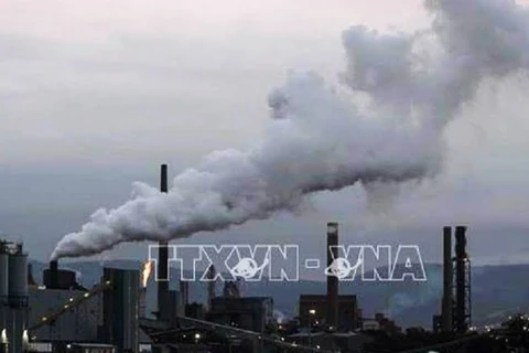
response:
<path fill-rule="evenodd" d="M 269 119 L 267 96 L 290 71 L 339 85 L 344 30 L 413 31 L 419 0 L 0 2 L 0 233 L 47 260 L 100 206 L 130 197 L 226 148 L 247 149 Z M 529 258 L 529 81 L 485 82 L 445 131 L 434 180 L 368 207 L 353 186 L 183 243 L 300 243 L 321 255 L 325 223 L 344 243 L 418 244 L 440 261 L 443 225 L 468 226 L 477 264 Z M 381 200 L 386 203 L 386 200 Z M 371 205 L 373 206 L 373 205 Z M 98 259 L 143 258 L 121 245 Z"/>

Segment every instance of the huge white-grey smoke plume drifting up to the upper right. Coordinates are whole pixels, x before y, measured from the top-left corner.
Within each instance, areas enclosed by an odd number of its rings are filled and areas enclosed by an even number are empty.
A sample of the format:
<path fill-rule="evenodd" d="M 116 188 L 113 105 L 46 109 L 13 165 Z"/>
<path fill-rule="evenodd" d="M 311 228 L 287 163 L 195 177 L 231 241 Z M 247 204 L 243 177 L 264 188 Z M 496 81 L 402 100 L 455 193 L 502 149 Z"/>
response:
<path fill-rule="evenodd" d="M 134 183 L 130 201 L 95 212 L 52 258 L 218 231 L 294 210 L 309 193 L 438 173 L 443 129 L 481 81 L 529 67 L 529 21 L 508 0 L 424 6 L 432 14 L 428 30 L 380 34 L 353 26 L 343 34 L 342 83 L 367 96 L 376 114 L 361 113 L 314 73 L 293 74 L 270 94 L 272 119 L 255 148 L 206 156 L 168 194 Z"/>

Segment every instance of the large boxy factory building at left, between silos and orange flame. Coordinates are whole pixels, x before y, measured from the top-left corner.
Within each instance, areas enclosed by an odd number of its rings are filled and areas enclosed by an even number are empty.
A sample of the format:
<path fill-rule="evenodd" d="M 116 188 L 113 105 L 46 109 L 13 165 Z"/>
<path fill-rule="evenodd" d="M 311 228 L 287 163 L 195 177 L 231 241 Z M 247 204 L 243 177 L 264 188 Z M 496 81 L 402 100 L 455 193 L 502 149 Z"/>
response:
<path fill-rule="evenodd" d="M 151 342 L 139 325 L 144 293 L 139 270 L 104 268 L 100 284 L 89 290 L 77 284 L 74 271 L 60 269 L 55 261 L 43 278 L 46 286 L 29 290 L 32 351 L 137 353 Z"/>

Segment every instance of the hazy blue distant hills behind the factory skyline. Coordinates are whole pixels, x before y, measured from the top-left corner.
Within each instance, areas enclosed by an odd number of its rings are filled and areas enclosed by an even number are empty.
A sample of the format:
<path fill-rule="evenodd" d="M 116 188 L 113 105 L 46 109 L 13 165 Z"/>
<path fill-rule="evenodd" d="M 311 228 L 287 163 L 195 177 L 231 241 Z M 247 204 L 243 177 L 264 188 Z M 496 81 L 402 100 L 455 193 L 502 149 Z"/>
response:
<path fill-rule="evenodd" d="M 33 276 L 42 284 L 42 270 L 47 264 L 32 261 Z M 114 260 L 106 261 L 105 266 L 140 269 L 140 261 Z M 102 275 L 100 263 L 83 261 L 69 263 L 61 266 L 80 274 L 80 281 L 85 287 L 91 287 L 99 281 Z M 170 287 L 177 289 L 177 269 L 172 269 Z M 359 306 L 365 317 L 375 312 L 388 312 L 403 327 L 423 325 L 431 328 L 432 315 L 441 308 L 442 266 L 425 265 L 428 280 L 413 282 L 342 282 L 341 293 L 357 295 Z M 529 265 L 483 266 L 474 267 L 472 271 L 472 301 L 473 324 L 482 325 L 494 323 L 504 317 L 529 311 Z M 276 309 L 285 315 L 295 315 L 298 299 L 301 293 L 325 293 L 325 284 L 322 281 L 301 280 L 299 282 L 277 282 L 262 280 L 241 285 L 244 296 L 273 297 Z M 217 285 L 217 295 L 222 292 L 222 284 Z M 155 284 L 148 286 L 148 306 L 155 307 Z M 190 300 L 206 300 L 206 284 L 193 282 L 190 286 Z"/>

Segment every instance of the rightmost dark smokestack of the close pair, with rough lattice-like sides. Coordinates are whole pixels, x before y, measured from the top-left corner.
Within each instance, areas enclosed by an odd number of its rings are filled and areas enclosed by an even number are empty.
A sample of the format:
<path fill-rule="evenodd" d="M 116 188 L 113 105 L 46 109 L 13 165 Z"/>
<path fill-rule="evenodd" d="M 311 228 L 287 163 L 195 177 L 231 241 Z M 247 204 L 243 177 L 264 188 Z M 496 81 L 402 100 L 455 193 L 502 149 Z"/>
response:
<path fill-rule="evenodd" d="M 455 227 L 455 311 L 454 329 L 457 333 L 465 333 L 469 327 L 471 286 L 469 260 L 466 254 L 466 227 Z"/>

